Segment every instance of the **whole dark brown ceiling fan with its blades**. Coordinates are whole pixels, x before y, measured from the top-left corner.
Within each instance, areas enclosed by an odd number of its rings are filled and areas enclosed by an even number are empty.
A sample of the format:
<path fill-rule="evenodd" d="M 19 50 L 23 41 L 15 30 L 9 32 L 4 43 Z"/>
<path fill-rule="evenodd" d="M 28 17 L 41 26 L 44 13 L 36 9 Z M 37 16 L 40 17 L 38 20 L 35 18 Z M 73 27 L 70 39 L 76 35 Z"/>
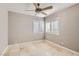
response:
<path fill-rule="evenodd" d="M 40 3 L 33 3 L 33 5 L 35 6 L 35 10 L 25 10 L 25 11 L 35 11 L 36 12 L 35 15 L 37 15 L 39 13 L 47 15 L 47 13 L 45 13 L 43 11 L 53 8 L 53 6 L 48 6 L 48 7 L 45 7 L 45 8 L 40 8 Z"/>

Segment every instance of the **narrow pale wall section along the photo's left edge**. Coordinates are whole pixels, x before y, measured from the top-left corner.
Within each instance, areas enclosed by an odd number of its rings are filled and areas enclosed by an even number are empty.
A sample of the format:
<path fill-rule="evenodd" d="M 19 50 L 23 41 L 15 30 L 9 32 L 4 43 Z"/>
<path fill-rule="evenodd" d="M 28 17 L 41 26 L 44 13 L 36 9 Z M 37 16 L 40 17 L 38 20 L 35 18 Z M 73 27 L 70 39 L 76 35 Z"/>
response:
<path fill-rule="evenodd" d="M 8 12 L 0 7 L 0 55 L 8 46 Z"/>

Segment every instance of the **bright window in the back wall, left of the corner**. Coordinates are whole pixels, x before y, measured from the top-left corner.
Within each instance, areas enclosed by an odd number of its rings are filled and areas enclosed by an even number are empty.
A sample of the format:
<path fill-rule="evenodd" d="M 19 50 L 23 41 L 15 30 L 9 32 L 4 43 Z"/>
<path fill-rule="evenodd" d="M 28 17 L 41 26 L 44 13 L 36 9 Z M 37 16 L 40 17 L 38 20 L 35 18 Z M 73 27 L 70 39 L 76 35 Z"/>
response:
<path fill-rule="evenodd" d="M 38 32 L 44 32 L 44 21 L 33 21 L 33 32 L 38 33 Z"/>

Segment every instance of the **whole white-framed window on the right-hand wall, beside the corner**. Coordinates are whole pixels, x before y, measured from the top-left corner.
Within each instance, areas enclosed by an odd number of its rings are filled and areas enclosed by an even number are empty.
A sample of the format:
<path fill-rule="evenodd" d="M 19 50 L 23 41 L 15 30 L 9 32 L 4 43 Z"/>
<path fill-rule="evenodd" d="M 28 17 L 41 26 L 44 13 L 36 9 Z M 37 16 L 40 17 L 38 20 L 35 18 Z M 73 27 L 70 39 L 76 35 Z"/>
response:
<path fill-rule="evenodd" d="M 46 32 L 53 34 L 59 34 L 59 19 L 46 21 Z"/>

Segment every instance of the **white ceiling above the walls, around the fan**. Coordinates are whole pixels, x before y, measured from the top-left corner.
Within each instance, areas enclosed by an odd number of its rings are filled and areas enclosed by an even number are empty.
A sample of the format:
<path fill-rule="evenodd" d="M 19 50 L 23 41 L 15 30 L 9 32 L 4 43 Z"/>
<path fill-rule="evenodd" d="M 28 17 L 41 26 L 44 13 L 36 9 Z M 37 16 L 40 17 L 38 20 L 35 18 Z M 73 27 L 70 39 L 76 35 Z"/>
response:
<path fill-rule="evenodd" d="M 48 15 L 55 13 L 57 11 L 60 11 L 64 8 L 68 8 L 72 5 L 74 5 L 74 3 L 41 3 L 40 7 L 44 8 L 44 7 L 47 7 L 50 5 L 53 6 L 53 9 L 44 11 Z M 0 7 L 5 7 L 9 11 L 13 11 L 13 12 L 23 13 L 23 14 L 27 14 L 27 15 L 34 15 L 34 16 L 38 16 L 38 17 L 46 17 L 43 14 L 35 15 L 36 13 L 34 11 L 25 11 L 25 10 L 34 10 L 35 9 L 35 7 L 32 3 L 3 3 L 3 4 L 0 4 Z"/>

